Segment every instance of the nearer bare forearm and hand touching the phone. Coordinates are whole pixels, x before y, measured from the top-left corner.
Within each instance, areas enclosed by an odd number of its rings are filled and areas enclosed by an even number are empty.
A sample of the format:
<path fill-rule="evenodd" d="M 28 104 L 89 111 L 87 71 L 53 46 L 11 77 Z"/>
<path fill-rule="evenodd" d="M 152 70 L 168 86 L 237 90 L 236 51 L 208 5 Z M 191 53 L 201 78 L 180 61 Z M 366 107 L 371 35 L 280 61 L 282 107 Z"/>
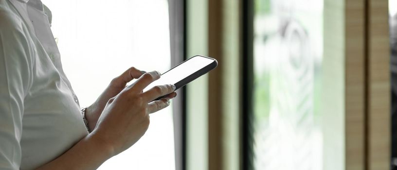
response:
<path fill-rule="evenodd" d="M 155 86 L 142 92 L 147 85 L 160 78 L 157 71 L 142 75 L 139 70 L 130 68 L 111 84 L 125 85 L 133 78 L 139 79 L 126 88 L 121 89 L 120 86 L 120 91 L 113 89 L 109 90 L 113 93 L 104 92 L 101 95 L 107 98 L 117 93 L 105 103 L 92 133 L 38 170 L 95 170 L 107 159 L 137 142 L 149 126 L 149 114 L 167 107 L 176 93 L 175 85 Z M 164 95 L 167 97 L 153 101 Z"/>

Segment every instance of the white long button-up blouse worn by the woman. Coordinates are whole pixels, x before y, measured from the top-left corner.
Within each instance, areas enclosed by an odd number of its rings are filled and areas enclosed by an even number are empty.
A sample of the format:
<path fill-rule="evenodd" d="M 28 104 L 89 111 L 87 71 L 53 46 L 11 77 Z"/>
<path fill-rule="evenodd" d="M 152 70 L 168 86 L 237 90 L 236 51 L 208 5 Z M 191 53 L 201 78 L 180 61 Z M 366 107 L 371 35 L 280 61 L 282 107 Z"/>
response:
<path fill-rule="evenodd" d="M 35 169 L 87 134 L 43 4 L 0 0 L 0 169 Z"/>

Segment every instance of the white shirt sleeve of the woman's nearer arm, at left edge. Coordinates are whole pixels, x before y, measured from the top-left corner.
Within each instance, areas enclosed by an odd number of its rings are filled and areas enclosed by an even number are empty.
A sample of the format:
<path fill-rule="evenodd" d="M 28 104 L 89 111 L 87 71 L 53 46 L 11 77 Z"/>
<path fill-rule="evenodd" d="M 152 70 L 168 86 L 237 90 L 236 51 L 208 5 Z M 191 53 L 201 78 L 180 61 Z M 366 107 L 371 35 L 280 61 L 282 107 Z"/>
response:
<path fill-rule="evenodd" d="M 0 169 L 19 170 L 24 98 L 32 73 L 22 20 L 0 7 Z M 25 30 L 25 31 L 24 31 Z"/>

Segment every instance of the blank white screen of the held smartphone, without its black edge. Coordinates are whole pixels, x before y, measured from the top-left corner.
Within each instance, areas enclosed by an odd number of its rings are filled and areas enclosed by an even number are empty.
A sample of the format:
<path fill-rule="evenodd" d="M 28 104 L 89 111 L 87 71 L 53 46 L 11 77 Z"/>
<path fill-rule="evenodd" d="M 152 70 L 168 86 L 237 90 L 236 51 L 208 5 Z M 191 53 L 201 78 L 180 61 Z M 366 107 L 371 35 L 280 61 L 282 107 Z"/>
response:
<path fill-rule="evenodd" d="M 199 71 L 201 68 L 210 65 L 212 62 L 214 62 L 213 59 L 195 56 L 180 64 L 179 66 L 172 68 L 168 72 L 162 74 L 159 80 L 156 80 L 148 85 L 144 89 L 144 91 L 147 91 L 156 85 L 176 84 L 187 76 L 195 73 L 196 71 Z"/>

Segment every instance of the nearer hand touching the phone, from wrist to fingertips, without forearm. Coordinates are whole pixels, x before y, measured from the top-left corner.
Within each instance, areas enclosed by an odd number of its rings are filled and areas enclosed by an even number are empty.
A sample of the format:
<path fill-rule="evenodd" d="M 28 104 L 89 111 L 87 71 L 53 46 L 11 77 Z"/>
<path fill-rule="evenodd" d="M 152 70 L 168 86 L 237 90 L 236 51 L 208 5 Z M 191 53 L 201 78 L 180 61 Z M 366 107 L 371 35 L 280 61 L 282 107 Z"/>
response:
<path fill-rule="evenodd" d="M 130 75 L 138 76 L 139 73 L 132 72 Z M 169 105 L 169 99 L 153 100 L 167 94 L 170 94 L 168 98 L 176 96 L 175 85 L 155 86 L 142 92 L 147 85 L 159 78 L 160 73 L 157 71 L 145 73 L 111 98 L 90 136 L 101 141 L 113 155 L 123 152 L 137 142 L 148 128 L 149 114 Z"/>

